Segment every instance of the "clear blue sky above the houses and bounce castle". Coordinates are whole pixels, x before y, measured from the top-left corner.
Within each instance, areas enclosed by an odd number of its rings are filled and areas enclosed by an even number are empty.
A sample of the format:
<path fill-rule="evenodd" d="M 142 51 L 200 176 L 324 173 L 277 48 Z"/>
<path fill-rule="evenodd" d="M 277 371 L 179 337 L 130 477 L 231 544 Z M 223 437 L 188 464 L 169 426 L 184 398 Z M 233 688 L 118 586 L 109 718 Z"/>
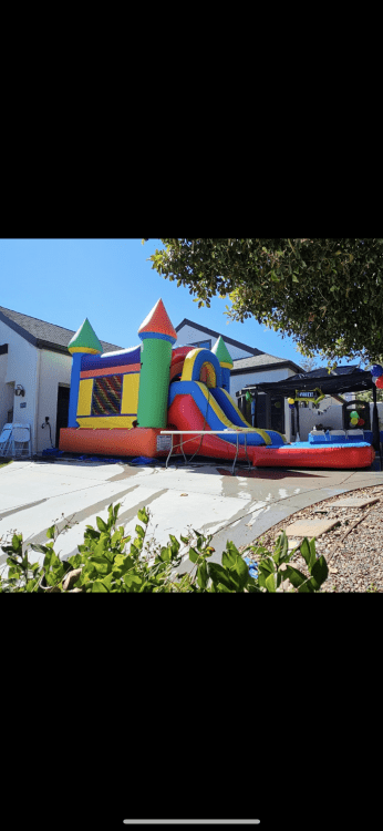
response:
<path fill-rule="evenodd" d="M 198 309 L 187 288 L 152 270 L 147 258 L 161 247 L 159 239 L 0 239 L 0 306 L 74 331 L 87 317 L 101 340 L 128 348 L 141 343 L 137 329 L 162 297 L 175 327 L 188 318 L 299 365 L 291 338 L 253 319 L 227 324 L 228 299 Z"/>

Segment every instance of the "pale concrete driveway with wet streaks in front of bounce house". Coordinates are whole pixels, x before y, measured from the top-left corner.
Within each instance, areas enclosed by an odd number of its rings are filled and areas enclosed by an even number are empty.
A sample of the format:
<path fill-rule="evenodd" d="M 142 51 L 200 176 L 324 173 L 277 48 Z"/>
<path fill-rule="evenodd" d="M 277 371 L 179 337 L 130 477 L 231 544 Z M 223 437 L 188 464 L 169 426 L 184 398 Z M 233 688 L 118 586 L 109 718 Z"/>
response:
<path fill-rule="evenodd" d="M 15 531 L 24 543 L 46 542 L 46 529 L 62 529 L 55 551 L 68 558 L 83 542 L 85 525 L 107 517 L 107 506 L 121 503 L 120 524 L 135 535 L 137 511 L 152 512 L 148 536 L 165 545 L 168 535 L 185 535 L 188 527 L 214 534 L 211 560 L 221 562 L 227 540 L 237 546 L 250 543 L 276 523 L 302 507 L 359 488 L 383 484 L 383 472 L 237 469 L 230 464 L 178 464 L 134 468 L 79 460 L 14 461 L 0 469 L 0 545 Z M 62 515 L 63 514 L 63 515 Z M 43 555 L 33 552 L 35 562 Z M 4 575 L 7 554 L 0 552 Z M 178 572 L 192 566 L 187 560 Z"/>

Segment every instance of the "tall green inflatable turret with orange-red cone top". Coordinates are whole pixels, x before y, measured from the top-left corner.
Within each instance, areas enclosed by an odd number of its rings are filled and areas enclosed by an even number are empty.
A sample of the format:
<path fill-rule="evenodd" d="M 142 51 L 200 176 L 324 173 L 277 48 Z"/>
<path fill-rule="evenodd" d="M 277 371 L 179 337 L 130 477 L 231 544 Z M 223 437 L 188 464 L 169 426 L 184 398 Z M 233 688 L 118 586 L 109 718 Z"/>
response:
<path fill-rule="evenodd" d="M 165 306 L 159 299 L 138 329 L 141 373 L 138 427 L 166 428 L 172 346 L 177 340 Z"/>

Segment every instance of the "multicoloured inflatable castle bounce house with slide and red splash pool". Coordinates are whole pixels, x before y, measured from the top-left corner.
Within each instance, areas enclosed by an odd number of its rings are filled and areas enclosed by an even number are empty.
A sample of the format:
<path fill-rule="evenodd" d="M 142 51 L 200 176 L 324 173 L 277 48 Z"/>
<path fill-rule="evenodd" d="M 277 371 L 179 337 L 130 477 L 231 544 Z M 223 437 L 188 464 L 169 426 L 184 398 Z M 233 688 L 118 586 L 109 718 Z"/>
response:
<path fill-rule="evenodd" d="M 234 460 L 237 437 L 247 431 L 247 454 L 255 466 L 368 468 L 370 444 L 313 447 L 287 444 L 273 430 L 251 428 L 230 398 L 232 360 L 221 337 L 215 347 L 177 347 L 175 331 L 159 299 L 138 329 L 142 345 L 102 355 L 87 319 L 70 341 L 72 376 L 69 423 L 60 450 L 97 455 L 156 459 L 168 455 L 163 430 L 204 431 L 187 435 L 188 454 Z M 215 430 L 236 435 L 215 435 Z M 174 452 L 182 453 L 179 437 Z M 186 443 L 187 440 L 187 443 Z M 246 460 L 239 434 L 238 461 Z"/>

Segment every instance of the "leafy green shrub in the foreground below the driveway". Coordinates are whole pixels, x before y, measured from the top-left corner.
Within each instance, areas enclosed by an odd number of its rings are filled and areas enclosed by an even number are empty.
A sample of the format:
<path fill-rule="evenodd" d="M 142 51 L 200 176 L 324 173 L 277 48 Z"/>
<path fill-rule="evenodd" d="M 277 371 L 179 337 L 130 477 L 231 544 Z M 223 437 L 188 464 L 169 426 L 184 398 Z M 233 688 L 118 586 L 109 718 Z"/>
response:
<path fill-rule="evenodd" d="M 314 538 L 310 542 L 304 538 L 299 546 L 309 577 L 289 565 L 297 548 L 288 551 L 284 531 L 272 554 L 263 546 L 249 545 L 241 555 L 228 541 L 219 565 L 208 562 L 214 553 L 213 535 L 204 536 L 193 530 L 188 536 L 180 536 L 180 542 L 169 534 L 166 546 L 147 541 L 146 507 L 138 511 L 142 524 L 135 526 L 137 536 L 131 542 L 132 537 L 124 535 L 124 526 L 117 527 L 120 506 L 108 506 L 106 522 L 97 516 L 97 529 L 86 525 L 83 544 L 68 561 L 54 552 L 54 543 L 62 533 L 56 525 L 48 529 L 46 545 L 23 546 L 22 534 L 13 534 L 12 542 L 1 546 L 8 554 L 9 572 L 7 577 L 0 577 L 0 592 L 319 592 L 328 577 L 324 557 L 317 558 Z M 192 571 L 184 575 L 176 571 L 185 556 L 182 543 L 188 546 L 193 563 Z M 29 548 L 44 554 L 42 565 L 30 562 Z M 257 577 L 250 576 L 245 555 L 257 560 Z"/>

